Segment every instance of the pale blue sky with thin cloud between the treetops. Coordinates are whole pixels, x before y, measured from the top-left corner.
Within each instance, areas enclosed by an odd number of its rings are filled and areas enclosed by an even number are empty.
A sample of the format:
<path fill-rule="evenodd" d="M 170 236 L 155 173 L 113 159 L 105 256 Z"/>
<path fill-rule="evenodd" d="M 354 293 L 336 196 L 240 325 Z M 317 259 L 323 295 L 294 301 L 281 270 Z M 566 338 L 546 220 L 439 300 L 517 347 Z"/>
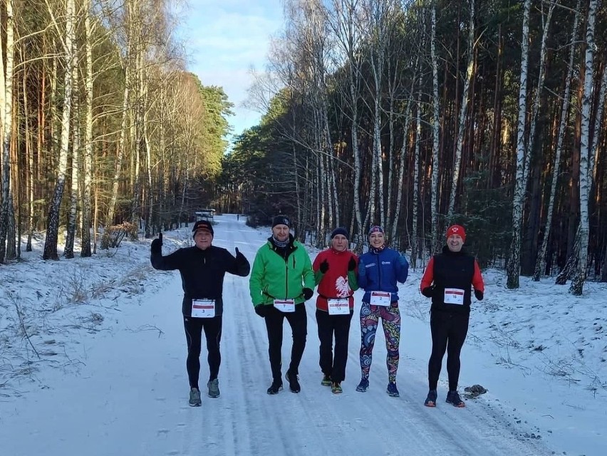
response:
<path fill-rule="evenodd" d="M 262 71 L 269 42 L 282 26 L 281 0 L 190 0 L 183 12 L 188 69 L 205 86 L 222 86 L 234 103 L 234 135 L 259 123 L 261 113 L 244 108 L 251 68 Z"/>

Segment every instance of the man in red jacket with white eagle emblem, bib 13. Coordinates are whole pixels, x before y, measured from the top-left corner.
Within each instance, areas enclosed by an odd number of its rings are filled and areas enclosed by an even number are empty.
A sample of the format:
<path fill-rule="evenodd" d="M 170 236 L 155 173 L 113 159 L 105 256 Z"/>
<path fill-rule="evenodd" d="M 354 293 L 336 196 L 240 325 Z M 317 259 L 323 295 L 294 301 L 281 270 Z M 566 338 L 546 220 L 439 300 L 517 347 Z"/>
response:
<path fill-rule="evenodd" d="M 323 371 L 322 385 L 331 386 L 335 394 L 342 393 L 341 382 L 346 378 L 348 361 L 348 335 L 354 314 L 353 294 L 358 289 L 356 268 L 358 257 L 348 250 L 348 230 L 333 229 L 331 247 L 319 253 L 312 269 L 318 298 L 316 299 L 316 323 L 321 341 L 320 366 Z M 333 336 L 335 353 L 333 354 Z"/>

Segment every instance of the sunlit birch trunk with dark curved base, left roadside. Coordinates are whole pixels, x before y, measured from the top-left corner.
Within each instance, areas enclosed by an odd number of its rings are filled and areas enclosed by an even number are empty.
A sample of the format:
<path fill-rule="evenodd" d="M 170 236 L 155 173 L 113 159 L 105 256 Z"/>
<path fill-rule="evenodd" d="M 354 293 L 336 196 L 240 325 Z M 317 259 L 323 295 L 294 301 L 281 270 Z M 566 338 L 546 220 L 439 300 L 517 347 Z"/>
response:
<path fill-rule="evenodd" d="M 72 69 L 76 66 L 76 53 L 73 41 L 75 38 L 74 26 L 74 0 L 66 1 L 66 71 L 63 81 L 63 115 L 61 117 L 61 143 L 59 145 L 59 161 L 57 165 L 57 181 L 55 191 L 48 210 L 46 239 L 44 242 L 43 259 L 58 259 L 57 237 L 59 232 L 59 212 L 61 210 L 61 199 L 66 185 L 66 169 L 68 163 L 70 142 L 70 118 L 72 108 Z"/>

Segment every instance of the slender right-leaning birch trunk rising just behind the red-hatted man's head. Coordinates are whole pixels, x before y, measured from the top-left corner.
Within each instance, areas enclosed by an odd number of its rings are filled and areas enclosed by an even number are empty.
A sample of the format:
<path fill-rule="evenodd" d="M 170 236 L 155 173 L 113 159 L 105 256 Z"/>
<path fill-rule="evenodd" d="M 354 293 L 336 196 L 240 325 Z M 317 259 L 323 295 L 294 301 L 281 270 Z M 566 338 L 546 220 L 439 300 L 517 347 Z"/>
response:
<path fill-rule="evenodd" d="M 469 0 L 470 4 L 470 22 L 468 31 L 468 65 L 466 69 L 466 79 L 462 90 L 462 106 L 460 108 L 460 121 L 457 128 L 457 148 L 455 150 L 455 162 L 453 164 L 453 178 L 451 182 L 451 193 L 449 196 L 449 209 L 447 209 L 447 220 L 451 221 L 455 212 L 455 196 L 457 193 L 457 184 L 460 181 L 460 167 L 462 166 L 462 147 L 464 146 L 464 133 L 466 125 L 466 116 L 468 111 L 468 90 L 472 75 L 474 74 L 474 0 Z"/>

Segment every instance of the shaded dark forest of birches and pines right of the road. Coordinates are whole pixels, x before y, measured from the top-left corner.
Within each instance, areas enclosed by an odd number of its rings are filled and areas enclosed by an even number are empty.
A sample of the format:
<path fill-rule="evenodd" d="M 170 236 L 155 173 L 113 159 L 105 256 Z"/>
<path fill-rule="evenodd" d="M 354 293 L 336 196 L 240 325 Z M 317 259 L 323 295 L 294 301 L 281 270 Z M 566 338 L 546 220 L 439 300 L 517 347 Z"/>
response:
<path fill-rule="evenodd" d="M 482 266 L 606 281 L 607 4 L 289 1 L 224 159 L 224 210 L 326 245 L 372 224 L 412 264 L 463 224 Z M 267 96 L 266 94 L 271 94 Z"/>

